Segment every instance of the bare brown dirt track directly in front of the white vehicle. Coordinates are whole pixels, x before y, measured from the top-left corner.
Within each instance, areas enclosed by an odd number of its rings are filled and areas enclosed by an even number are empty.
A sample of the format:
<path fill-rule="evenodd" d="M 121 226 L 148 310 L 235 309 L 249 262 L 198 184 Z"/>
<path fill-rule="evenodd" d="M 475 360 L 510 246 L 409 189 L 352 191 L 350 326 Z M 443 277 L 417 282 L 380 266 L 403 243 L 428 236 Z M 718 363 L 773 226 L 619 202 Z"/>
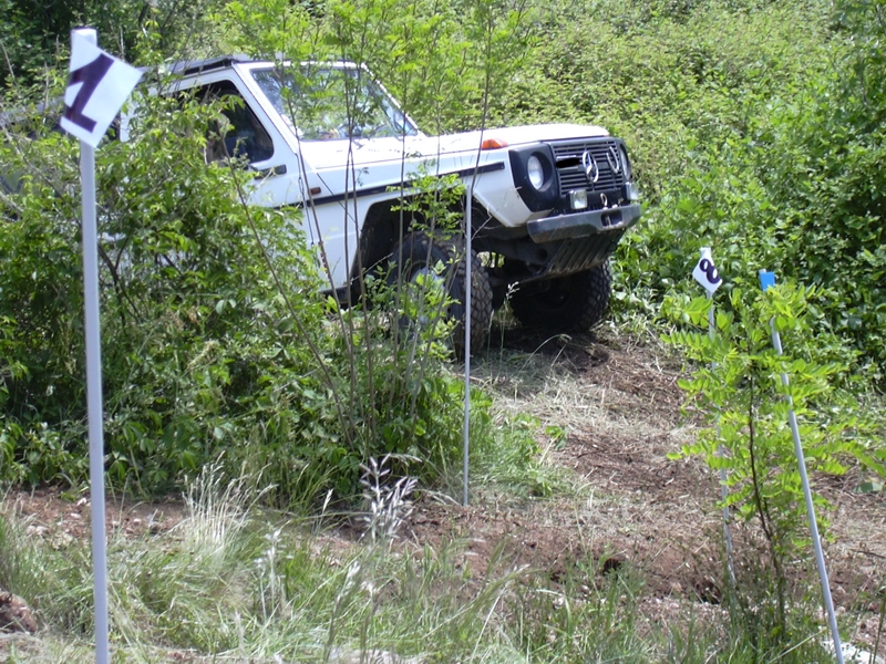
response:
<path fill-rule="evenodd" d="M 570 471 L 578 497 L 494 509 L 422 504 L 412 540 L 465 540 L 465 563 L 477 573 L 494 552 L 544 571 L 554 583 L 576 573 L 593 583 L 627 563 L 640 570 L 653 596 L 709 595 L 718 568 L 718 540 L 709 531 L 719 525 L 709 506 L 718 485 L 697 464 L 667 458 L 687 435 L 680 370 L 662 367 L 649 349 L 612 339 L 509 330 L 502 341 L 504 360 L 496 350 L 477 373 L 498 393 L 514 393 L 515 411 L 568 427 L 565 444 L 548 458 Z M 508 371 L 522 361 L 515 362 L 515 351 L 530 355 L 516 376 Z M 558 411 L 569 412 L 567 422 Z"/>

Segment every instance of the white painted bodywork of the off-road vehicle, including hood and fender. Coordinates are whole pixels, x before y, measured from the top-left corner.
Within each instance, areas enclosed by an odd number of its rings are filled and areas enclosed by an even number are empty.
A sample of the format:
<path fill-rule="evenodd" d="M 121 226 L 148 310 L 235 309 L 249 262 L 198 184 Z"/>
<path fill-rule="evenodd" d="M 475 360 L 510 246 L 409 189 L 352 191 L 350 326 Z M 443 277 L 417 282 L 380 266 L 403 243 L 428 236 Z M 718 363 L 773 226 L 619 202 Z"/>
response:
<path fill-rule="evenodd" d="M 544 145 L 547 148 L 545 144 L 553 142 L 609 136 L 599 126 L 549 124 L 443 136 L 412 132 L 413 135 L 402 136 L 308 141 L 278 112 L 279 106 L 266 96 L 254 77 L 254 72 L 267 73 L 271 65 L 234 60 L 220 66 L 207 66 L 206 71 L 184 70 L 183 77 L 171 89 L 153 92 L 169 94 L 207 85 L 236 87 L 272 144 L 270 157 L 250 162 L 258 176 L 249 191 L 249 203 L 284 210 L 291 208 L 292 221 L 303 228 L 312 246 L 321 249 L 334 288 L 346 287 L 353 277 L 362 225 L 370 208 L 410 194 L 416 177 L 459 174 L 462 181 L 472 185 L 474 199 L 490 218 L 503 228 L 518 229 L 546 218 L 552 208 L 527 207 L 525 196 L 515 186 L 517 176 L 512 169 L 511 151 L 519 146 Z M 348 63 L 329 66 L 359 69 Z M 122 129 L 125 138 L 125 118 Z M 496 139 L 502 147 L 482 149 L 487 139 Z M 639 216 L 639 207 L 635 207 Z M 544 232 L 553 237 L 557 231 L 546 228 Z"/>

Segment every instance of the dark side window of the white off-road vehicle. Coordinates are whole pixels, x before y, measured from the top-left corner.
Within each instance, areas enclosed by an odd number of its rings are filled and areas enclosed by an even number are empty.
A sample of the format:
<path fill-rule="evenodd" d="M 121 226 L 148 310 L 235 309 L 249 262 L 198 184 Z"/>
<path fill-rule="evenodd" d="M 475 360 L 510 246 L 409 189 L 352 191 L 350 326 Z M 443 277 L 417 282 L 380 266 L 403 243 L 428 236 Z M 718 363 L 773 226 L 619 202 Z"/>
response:
<path fill-rule="evenodd" d="M 214 83 L 196 91 L 197 98 L 220 101 L 223 108 L 206 139 L 206 160 L 246 158 L 264 162 L 274 156 L 274 143 L 243 95 L 231 83 Z"/>

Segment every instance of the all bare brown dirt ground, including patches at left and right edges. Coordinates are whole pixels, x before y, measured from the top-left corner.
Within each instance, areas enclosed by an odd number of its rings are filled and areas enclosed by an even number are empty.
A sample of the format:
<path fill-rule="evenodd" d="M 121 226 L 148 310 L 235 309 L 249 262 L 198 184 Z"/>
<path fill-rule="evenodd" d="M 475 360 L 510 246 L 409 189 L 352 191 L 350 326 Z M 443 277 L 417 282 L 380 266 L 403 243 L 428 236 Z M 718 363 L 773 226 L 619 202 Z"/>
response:
<path fill-rule="evenodd" d="M 573 488 L 532 501 L 481 491 L 466 508 L 420 499 L 402 539 L 415 544 L 457 539 L 465 542 L 464 564 L 476 574 L 496 553 L 540 570 L 555 584 L 579 566 L 587 570 L 590 563 L 595 574 L 604 574 L 629 564 L 645 580 L 641 610 L 653 620 L 667 620 L 669 611 L 687 604 L 699 611 L 717 606 L 720 487 L 702 463 L 667 457 L 694 435 L 691 418 L 681 414 L 681 367 L 661 360 L 655 343 L 638 344 L 611 331 L 577 339 L 497 334 L 501 349 L 496 344 L 477 356 L 472 375 L 505 411 L 530 413 L 543 428 L 562 427 L 565 436 L 543 447 Z M 857 624 L 853 641 L 869 646 L 886 585 L 886 499 L 859 492 L 862 479 L 858 471 L 814 478 L 835 506 L 833 541 L 825 550 L 834 601 Z M 58 488 L 12 491 L 4 504 L 2 509 L 14 506 L 30 519 L 35 536 L 59 543 L 89 537 L 89 504 Z M 165 530 L 183 509 L 178 500 L 147 505 L 112 496 L 107 526 L 133 536 Z M 753 528 L 733 525 L 732 536 L 739 559 L 759 556 Z M 353 533 L 343 529 L 331 537 L 346 546 Z M 815 568 L 806 562 L 814 578 Z M 886 647 L 879 654 L 886 655 Z"/>

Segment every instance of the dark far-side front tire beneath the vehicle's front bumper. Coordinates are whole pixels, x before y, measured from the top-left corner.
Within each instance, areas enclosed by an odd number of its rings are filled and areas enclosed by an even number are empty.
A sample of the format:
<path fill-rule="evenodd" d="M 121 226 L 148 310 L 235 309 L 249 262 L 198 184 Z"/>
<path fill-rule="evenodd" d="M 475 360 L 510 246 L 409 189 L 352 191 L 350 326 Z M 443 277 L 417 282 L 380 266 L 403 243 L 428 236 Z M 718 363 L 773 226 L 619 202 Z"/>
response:
<path fill-rule="evenodd" d="M 576 274 L 552 279 L 511 295 L 511 309 L 524 326 L 546 332 L 587 332 L 609 308 L 612 271 L 609 262 Z"/>

